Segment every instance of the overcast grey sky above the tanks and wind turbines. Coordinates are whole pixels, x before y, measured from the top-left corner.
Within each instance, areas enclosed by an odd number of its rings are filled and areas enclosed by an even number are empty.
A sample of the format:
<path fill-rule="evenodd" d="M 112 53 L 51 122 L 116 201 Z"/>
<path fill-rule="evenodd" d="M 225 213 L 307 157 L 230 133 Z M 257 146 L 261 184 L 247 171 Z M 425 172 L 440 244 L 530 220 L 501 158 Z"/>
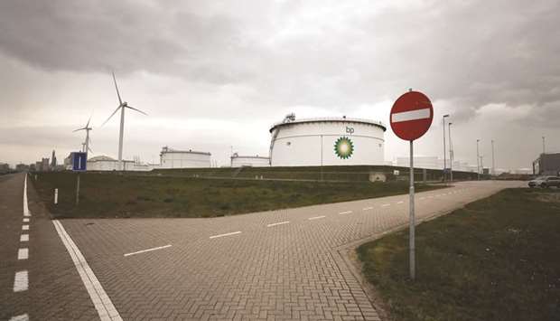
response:
<path fill-rule="evenodd" d="M 451 114 L 455 158 L 529 167 L 560 150 L 560 2 L 551 1 L 2 1 L 0 162 L 80 148 L 90 115 L 94 155 L 117 157 L 110 71 L 127 111 L 124 156 L 158 161 L 162 146 L 230 146 L 266 156 L 269 127 L 342 116 L 388 124 L 408 88 L 434 103 L 417 155 L 442 156 Z M 385 159 L 408 145 L 388 128 Z"/>

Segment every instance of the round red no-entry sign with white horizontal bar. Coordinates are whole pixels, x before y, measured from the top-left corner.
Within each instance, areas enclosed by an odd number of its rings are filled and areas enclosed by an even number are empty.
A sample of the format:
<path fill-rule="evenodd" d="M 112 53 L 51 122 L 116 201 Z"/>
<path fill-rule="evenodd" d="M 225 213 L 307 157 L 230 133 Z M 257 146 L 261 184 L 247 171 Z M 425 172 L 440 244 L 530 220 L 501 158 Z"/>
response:
<path fill-rule="evenodd" d="M 415 140 L 422 137 L 434 118 L 432 102 L 419 91 L 408 91 L 391 109 L 391 128 L 397 137 Z"/>

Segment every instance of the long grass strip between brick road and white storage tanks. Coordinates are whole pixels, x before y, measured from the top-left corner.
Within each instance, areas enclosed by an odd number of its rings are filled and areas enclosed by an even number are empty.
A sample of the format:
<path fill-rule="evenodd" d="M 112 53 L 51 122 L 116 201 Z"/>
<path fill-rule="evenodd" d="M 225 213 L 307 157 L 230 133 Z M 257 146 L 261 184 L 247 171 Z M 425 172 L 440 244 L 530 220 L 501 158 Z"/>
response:
<path fill-rule="evenodd" d="M 406 183 L 320 183 L 44 173 L 33 184 L 55 217 L 213 217 L 406 194 Z M 52 203 L 54 188 L 59 204 Z M 423 191 L 437 187 L 418 185 Z"/>

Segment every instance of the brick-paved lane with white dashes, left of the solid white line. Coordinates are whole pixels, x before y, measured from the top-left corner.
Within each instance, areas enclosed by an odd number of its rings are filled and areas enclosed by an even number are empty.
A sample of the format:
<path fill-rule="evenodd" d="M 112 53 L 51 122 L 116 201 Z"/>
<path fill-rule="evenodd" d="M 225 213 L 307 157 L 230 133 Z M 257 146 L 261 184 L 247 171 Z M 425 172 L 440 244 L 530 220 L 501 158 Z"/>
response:
<path fill-rule="evenodd" d="M 23 216 L 23 175 L 0 176 L 0 320 L 98 320 L 78 272 L 31 184 L 30 216 Z M 23 222 L 23 218 L 29 222 Z M 22 226 L 29 225 L 23 231 Z M 21 235 L 29 241 L 21 241 Z M 18 260 L 18 250 L 28 258 Z M 14 292 L 14 276 L 27 271 L 28 289 Z"/>

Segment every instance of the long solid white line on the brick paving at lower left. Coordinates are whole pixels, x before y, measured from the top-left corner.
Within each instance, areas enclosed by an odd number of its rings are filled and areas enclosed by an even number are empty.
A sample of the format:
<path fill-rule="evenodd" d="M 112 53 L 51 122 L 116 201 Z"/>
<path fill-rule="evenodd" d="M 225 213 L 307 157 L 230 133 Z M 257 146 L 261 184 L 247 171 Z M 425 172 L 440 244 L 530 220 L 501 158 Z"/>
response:
<path fill-rule="evenodd" d="M 62 223 L 58 220 L 52 221 L 56 231 L 61 237 L 62 243 L 68 250 L 70 258 L 74 262 L 76 269 L 78 269 L 79 277 L 84 283 L 84 286 L 88 290 L 89 298 L 93 302 L 94 307 L 98 310 L 98 316 L 101 320 L 122 320 L 118 314 L 117 308 L 111 302 L 111 299 L 107 296 L 107 292 L 99 283 L 98 278 L 95 276 L 89 264 L 84 258 L 84 256 L 79 251 L 78 247 L 70 238 L 70 235 L 64 230 Z"/>

